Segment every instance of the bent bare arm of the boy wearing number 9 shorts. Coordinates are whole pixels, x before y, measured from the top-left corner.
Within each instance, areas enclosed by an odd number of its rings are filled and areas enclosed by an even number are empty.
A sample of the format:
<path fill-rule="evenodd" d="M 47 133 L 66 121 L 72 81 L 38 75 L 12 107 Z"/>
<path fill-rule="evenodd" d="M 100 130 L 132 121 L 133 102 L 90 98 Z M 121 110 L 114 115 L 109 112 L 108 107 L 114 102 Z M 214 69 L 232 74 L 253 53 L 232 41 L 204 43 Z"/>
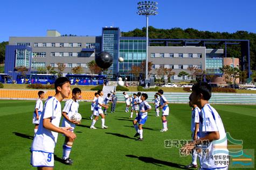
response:
<path fill-rule="evenodd" d="M 63 128 L 59 128 L 59 127 L 54 126 L 51 123 L 51 117 L 43 119 L 43 126 L 44 126 L 45 129 L 48 129 L 48 130 L 51 130 L 51 131 L 54 131 L 54 132 L 57 132 L 57 133 L 65 134 L 66 137 L 69 137 L 69 138 L 72 138 L 72 139 L 77 138 L 75 133 L 73 133 L 71 131 L 68 131 L 68 129 L 63 129 Z"/>

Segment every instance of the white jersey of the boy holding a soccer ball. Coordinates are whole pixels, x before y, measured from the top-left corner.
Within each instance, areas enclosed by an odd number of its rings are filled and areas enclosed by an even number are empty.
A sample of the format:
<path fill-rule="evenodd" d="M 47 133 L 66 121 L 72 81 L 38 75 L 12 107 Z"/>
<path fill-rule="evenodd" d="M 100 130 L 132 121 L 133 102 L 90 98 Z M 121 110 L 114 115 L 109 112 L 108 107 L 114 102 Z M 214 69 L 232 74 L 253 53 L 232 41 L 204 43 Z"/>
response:
<path fill-rule="evenodd" d="M 78 108 L 79 108 L 78 102 L 73 101 L 73 99 L 71 98 L 70 100 L 66 101 L 65 106 L 63 108 L 63 112 L 66 112 L 68 118 L 71 119 L 71 117 L 74 114 L 78 113 Z M 64 117 L 63 121 L 62 121 L 62 126 L 66 126 L 65 122 L 68 124 L 73 124 L 73 123 L 67 121 L 67 119 Z M 74 126 L 74 124 L 73 124 L 73 126 Z"/>

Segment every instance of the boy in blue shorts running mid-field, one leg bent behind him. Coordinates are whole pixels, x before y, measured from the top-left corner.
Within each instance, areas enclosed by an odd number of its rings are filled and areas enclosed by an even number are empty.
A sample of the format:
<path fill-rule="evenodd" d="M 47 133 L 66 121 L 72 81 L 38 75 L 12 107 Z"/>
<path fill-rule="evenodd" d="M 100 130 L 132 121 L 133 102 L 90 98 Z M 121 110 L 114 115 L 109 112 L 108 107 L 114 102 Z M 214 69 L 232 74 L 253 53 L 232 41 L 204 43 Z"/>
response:
<path fill-rule="evenodd" d="M 140 136 L 136 140 L 143 140 L 143 129 L 142 126 L 146 123 L 148 118 L 148 111 L 151 110 L 151 106 L 146 102 L 148 98 L 148 95 L 146 93 L 143 93 L 141 95 L 141 103 L 140 103 L 140 112 L 139 115 L 134 119 L 133 125 L 136 131 L 136 134 L 134 137 Z M 139 124 L 139 126 L 137 125 Z"/>

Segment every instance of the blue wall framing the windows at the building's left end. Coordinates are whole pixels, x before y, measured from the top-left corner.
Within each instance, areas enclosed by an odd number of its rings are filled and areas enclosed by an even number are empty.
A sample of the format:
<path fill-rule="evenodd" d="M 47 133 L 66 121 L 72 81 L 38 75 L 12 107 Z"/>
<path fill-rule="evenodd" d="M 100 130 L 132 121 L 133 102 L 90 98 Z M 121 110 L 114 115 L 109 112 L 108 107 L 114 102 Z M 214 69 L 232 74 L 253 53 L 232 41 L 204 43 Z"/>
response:
<path fill-rule="evenodd" d="M 16 80 L 17 75 L 19 74 L 17 70 L 15 70 L 16 63 L 16 51 L 17 49 L 23 49 L 31 52 L 30 55 L 30 64 L 29 71 L 27 74 L 31 72 L 31 62 L 32 62 L 32 48 L 25 45 L 6 45 L 5 47 L 5 64 L 4 64 L 4 73 L 9 74 L 12 77 L 12 80 Z"/>

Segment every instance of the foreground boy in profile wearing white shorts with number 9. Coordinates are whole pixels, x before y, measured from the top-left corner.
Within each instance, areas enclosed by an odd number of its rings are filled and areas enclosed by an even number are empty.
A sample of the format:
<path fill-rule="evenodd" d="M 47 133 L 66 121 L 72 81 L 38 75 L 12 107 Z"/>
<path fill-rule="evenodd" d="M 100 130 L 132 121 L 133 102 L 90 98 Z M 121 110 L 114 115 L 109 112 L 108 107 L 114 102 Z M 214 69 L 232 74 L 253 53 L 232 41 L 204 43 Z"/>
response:
<path fill-rule="evenodd" d="M 54 86 L 56 94 L 45 102 L 38 131 L 31 146 L 30 164 L 38 169 L 53 169 L 54 147 L 57 143 L 58 133 L 63 133 L 68 138 L 76 138 L 75 134 L 70 131 L 70 127 L 59 127 L 60 102 L 70 95 L 70 80 L 67 77 L 59 77 Z"/>

